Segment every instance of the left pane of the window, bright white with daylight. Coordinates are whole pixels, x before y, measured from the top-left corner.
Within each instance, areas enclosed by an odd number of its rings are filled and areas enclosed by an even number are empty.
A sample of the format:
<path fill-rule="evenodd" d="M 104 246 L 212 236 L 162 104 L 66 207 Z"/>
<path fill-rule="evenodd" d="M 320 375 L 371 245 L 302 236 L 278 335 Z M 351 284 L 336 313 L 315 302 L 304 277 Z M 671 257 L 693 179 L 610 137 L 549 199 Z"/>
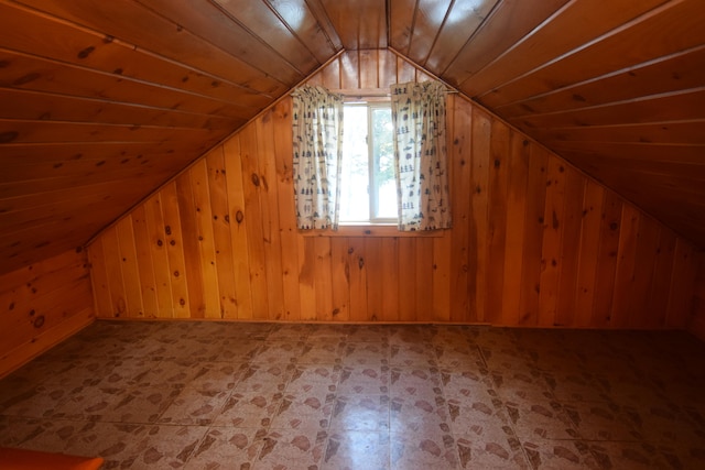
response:
<path fill-rule="evenodd" d="M 340 221 L 344 222 L 370 219 L 367 128 L 367 107 L 345 106 L 340 181 Z"/>

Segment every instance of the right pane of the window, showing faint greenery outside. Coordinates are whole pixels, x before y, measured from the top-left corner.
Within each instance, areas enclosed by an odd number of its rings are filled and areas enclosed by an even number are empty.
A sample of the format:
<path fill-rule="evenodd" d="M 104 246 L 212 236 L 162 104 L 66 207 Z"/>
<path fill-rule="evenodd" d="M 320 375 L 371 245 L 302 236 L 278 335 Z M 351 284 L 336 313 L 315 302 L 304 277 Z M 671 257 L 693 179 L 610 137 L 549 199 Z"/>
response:
<path fill-rule="evenodd" d="M 394 147 L 392 112 L 389 107 L 371 109 L 372 128 L 372 210 L 373 218 L 397 219 L 397 184 L 394 182 Z"/>

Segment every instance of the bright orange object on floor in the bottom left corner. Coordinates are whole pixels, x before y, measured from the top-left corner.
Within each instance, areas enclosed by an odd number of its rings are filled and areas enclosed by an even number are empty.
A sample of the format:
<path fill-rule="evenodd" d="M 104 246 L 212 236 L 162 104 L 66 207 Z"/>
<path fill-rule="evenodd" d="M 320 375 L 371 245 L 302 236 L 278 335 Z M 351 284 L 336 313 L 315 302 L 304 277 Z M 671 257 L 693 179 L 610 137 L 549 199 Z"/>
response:
<path fill-rule="evenodd" d="M 67 456 L 0 447 L 0 469 L 2 470 L 98 470 L 100 467 L 102 467 L 100 457 Z"/>

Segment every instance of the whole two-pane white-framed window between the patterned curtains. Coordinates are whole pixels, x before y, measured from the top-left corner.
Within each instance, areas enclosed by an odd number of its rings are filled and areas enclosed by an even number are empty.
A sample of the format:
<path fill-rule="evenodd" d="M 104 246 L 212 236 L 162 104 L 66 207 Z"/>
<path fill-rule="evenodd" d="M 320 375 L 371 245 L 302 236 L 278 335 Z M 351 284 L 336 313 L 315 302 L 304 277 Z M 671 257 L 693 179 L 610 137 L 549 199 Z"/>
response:
<path fill-rule="evenodd" d="M 397 223 L 392 113 L 389 102 L 344 106 L 341 223 Z"/>

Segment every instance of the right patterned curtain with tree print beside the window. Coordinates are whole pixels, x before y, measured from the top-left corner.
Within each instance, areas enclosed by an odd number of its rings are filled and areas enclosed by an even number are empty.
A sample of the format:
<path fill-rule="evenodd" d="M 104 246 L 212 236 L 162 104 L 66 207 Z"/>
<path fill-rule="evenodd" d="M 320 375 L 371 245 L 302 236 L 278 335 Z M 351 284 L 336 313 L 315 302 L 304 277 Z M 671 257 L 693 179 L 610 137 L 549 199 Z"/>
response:
<path fill-rule="evenodd" d="M 399 230 L 451 228 L 445 86 L 391 86 Z"/>

